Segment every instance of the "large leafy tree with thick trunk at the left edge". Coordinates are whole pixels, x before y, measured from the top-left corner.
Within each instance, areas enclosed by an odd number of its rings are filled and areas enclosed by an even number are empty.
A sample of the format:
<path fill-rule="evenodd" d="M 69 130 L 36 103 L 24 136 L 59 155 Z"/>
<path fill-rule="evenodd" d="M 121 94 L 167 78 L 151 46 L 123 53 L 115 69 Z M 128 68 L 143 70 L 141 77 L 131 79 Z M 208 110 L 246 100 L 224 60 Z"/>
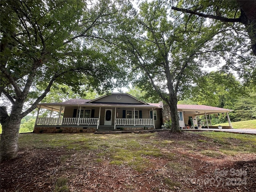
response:
<path fill-rule="evenodd" d="M 0 6 L 0 93 L 12 103 L 10 114 L 0 108 L 2 161 L 17 156 L 21 119 L 54 82 L 76 92 L 81 85 L 103 92 L 112 88 L 113 79 L 121 83 L 125 74 L 95 42 L 121 8 L 117 1 L 2 0 Z"/>

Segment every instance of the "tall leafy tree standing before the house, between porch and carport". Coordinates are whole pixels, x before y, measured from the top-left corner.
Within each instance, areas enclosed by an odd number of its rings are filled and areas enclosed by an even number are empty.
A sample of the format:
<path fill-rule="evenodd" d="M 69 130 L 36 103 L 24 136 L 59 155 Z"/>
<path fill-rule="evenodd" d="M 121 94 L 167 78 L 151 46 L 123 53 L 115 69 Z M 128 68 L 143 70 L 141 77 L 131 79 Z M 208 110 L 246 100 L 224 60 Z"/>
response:
<path fill-rule="evenodd" d="M 139 8 L 138 14 L 131 11 L 118 21 L 118 46 L 128 66 L 133 66 L 130 71 L 136 71 L 134 82 L 168 104 L 171 131 L 180 132 L 178 98 L 203 73 L 204 65 L 218 65 L 221 57 L 237 63 L 236 52 L 241 49 L 235 40 L 226 40 L 220 23 L 209 28 L 204 18 L 178 16 L 164 1 L 142 2 Z M 249 56 L 242 62 L 250 62 Z"/>

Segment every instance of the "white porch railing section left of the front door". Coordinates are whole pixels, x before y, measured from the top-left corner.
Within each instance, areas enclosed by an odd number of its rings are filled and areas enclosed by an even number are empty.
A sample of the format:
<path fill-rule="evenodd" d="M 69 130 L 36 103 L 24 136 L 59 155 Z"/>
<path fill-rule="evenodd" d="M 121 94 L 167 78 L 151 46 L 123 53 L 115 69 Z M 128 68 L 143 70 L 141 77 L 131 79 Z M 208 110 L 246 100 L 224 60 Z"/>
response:
<path fill-rule="evenodd" d="M 97 125 L 99 118 L 38 118 L 37 125 Z"/>

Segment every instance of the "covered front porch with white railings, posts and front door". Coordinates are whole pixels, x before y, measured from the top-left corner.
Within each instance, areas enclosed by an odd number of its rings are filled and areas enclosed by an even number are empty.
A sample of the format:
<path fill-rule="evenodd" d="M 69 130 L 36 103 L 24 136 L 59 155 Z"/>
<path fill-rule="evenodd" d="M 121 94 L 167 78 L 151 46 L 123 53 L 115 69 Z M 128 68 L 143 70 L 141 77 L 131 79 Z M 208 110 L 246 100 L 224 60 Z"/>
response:
<path fill-rule="evenodd" d="M 39 116 L 42 108 L 50 110 L 48 117 Z M 150 130 L 155 129 L 154 115 L 156 112 L 149 107 L 142 109 L 135 106 L 79 106 L 74 108 L 57 104 L 39 105 L 34 132 Z M 145 118 L 146 116 L 148 118 Z"/>

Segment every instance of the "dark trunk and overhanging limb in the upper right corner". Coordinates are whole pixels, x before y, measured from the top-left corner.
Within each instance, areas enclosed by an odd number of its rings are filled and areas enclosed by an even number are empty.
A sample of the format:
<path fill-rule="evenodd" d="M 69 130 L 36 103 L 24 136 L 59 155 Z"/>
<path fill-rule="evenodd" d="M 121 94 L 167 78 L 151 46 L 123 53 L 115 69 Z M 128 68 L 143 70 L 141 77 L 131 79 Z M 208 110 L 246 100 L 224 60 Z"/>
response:
<path fill-rule="evenodd" d="M 256 1 L 254 0 L 232 0 L 232 1 L 181 1 L 178 8 L 172 6 L 173 10 L 211 18 L 230 23 L 242 23 L 251 40 L 252 51 L 256 56 Z"/>

